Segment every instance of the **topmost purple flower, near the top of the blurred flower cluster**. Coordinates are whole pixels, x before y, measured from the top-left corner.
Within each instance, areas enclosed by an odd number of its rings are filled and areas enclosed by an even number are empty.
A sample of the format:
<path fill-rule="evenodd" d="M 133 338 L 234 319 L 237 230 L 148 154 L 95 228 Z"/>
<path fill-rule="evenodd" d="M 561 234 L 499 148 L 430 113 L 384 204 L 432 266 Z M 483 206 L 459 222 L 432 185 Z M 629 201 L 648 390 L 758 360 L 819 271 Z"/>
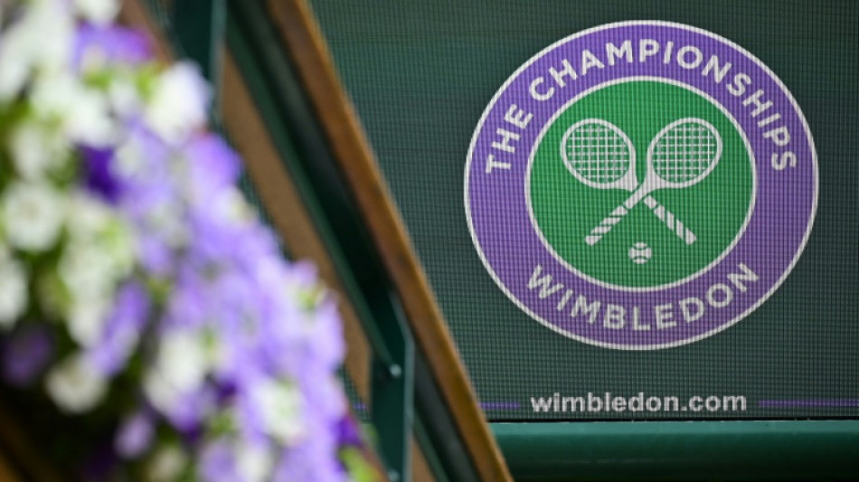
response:
<path fill-rule="evenodd" d="M 83 24 L 75 39 L 72 62 L 81 69 L 90 59 L 137 65 L 152 59 L 152 49 L 146 35 L 134 30 Z"/>

